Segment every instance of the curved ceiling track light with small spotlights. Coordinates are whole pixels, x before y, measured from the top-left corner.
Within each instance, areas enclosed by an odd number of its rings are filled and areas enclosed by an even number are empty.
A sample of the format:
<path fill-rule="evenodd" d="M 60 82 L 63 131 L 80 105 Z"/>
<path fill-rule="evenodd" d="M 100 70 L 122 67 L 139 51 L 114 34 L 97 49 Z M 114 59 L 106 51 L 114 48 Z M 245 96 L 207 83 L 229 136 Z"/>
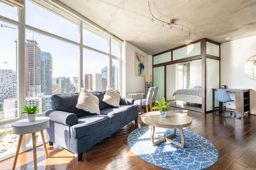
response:
<path fill-rule="evenodd" d="M 170 26 L 170 27 L 169 27 L 170 29 L 172 29 L 172 27 L 175 27 L 176 25 L 181 26 L 180 31 L 184 31 L 183 27 L 186 28 L 186 29 L 188 29 L 188 31 L 187 31 L 187 32 L 188 32 L 188 40 L 190 40 L 191 30 L 189 29 L 188 26 L 185 26 L 185 25 L 176 23 L 176 20 L 175 20 L 175 19 L 170 19 L 168 22 L 166 22 L 166 21 L 164 21 L 164 20 L 161 20 L 161 16 L 160 16 L 160 19 L 156 18 L 156 17 L 152 14 L 152 12 L 151 12 L 151 10 L 150 10 L 150 3 L 149 3 L 149 0 L 148 0 L 147 10 L 149 10 L 150 14 L 152 15 L 151 22 L 154 22 L 155 20 L 158 20 L 158 21 L 162 22 L 162 26 L 161 26 L 161 27 L 164 27 L 164 23 L 166 23 L 168 26 Z M 173 26 L 173 25 L 175 25 L 175 26 Z M 177 27 L 175 27 L 175 28 L 177 28 Z"/>

